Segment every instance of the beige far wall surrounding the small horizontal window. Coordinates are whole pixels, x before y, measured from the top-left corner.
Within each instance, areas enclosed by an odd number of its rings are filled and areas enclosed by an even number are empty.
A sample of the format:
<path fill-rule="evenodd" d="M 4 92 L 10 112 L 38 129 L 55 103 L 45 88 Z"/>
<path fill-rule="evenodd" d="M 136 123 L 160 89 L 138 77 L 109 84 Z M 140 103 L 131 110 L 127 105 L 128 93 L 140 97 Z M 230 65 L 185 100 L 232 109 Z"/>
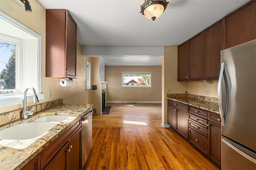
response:
<path fill-rule="evenodd" d="M 151 72 L 151 88 L 122 88 L 122 71 Z M 105 66 L 107 101 L 160 102 L 161 66 Z"/>

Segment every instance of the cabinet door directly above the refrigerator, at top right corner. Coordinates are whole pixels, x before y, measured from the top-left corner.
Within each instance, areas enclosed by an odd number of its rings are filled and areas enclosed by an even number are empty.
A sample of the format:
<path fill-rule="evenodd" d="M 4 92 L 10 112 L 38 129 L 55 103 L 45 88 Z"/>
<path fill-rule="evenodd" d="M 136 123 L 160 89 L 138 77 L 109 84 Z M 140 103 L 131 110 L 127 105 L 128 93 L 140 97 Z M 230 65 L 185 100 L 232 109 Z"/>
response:
<path fill-rule="evenodd" d="M 226 21 L 226 48 L 230 48 L 253 39 L 256 39 L 256 5 L 249 2 L 249 5 L 238 9 L 229 16 Z"/>

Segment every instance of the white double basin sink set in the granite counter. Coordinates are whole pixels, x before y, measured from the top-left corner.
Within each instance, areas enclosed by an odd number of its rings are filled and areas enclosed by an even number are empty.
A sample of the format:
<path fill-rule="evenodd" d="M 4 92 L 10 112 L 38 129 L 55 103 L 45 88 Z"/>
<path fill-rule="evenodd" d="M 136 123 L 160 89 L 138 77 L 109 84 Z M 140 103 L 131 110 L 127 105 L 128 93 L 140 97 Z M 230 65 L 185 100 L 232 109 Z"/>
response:
<path fill-rule="evenodd" d="M 62 122 L 69 116 L 66 115 L 48 115 L 41 116 L 27 123 L 21 123 L 0 130 L 0 140 L 25 140 L 38 137 L 54 126 Z"/>

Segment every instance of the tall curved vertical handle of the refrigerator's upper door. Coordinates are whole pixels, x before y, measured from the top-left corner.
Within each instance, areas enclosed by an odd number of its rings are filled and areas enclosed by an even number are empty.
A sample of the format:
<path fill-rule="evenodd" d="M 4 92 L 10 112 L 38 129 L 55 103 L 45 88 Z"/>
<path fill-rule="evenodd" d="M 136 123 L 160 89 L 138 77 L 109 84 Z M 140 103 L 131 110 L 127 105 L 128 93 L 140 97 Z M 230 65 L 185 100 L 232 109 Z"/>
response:
<path fill-rule="evenodd" d="M 222 108 L 222 80 L 223 80 L 223 78 L 224 78 L 225 89 L 226 89 L 226 104 L 225 104 L 224 111 Z M 221 63 L 221 65 L 220 65 L 220 76 L 219 76 L 219 81 L 218 81 L 218 105 L 219 105 L 219 109 L 220 109 L 221 125 L 225 126 L 227 109 L 228 109 L 228 105 L 229 105 L 229 83 L 228 83 L 228 76 L 226 73 L 224 63 Z"/>

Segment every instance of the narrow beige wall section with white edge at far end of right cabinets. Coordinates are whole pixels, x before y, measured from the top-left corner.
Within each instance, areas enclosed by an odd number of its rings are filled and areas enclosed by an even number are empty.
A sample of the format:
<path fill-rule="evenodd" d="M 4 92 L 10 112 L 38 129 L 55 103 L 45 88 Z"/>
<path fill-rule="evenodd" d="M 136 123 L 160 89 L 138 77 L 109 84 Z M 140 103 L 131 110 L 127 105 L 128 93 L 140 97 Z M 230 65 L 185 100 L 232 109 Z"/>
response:
<path fill-rule="evenodd" d="M 188 82 L 178 82 L 178 47 L 164 47 L 164 57 L 162 58 L 162 125 L 167 125 L 167 99 L 168 88 L 171 93 L 185 93 L 188 90 Z"/>

